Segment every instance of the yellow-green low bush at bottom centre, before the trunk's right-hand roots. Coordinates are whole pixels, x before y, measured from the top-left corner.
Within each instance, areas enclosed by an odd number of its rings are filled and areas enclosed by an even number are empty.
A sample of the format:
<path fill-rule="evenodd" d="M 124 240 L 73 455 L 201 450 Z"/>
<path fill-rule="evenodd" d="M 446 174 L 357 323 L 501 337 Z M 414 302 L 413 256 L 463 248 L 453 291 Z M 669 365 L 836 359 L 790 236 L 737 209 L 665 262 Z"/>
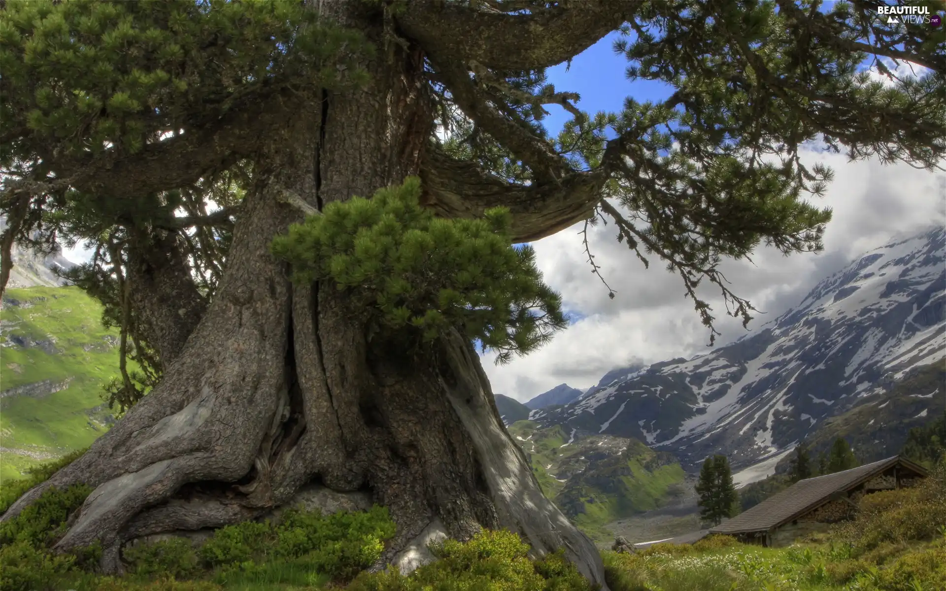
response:
<path fill-rule="evenodd" d="M 508 530 L 482 530 L 469 542 L 446 540 L 431 546 L 438 561 L 401 575 L 396 568 L 362 572 L 349 591 L 427 589 L 508 589 L 509 591 L 588 591 L 590 585 L 559 552 L 528 558 L 529 546 Z"/>

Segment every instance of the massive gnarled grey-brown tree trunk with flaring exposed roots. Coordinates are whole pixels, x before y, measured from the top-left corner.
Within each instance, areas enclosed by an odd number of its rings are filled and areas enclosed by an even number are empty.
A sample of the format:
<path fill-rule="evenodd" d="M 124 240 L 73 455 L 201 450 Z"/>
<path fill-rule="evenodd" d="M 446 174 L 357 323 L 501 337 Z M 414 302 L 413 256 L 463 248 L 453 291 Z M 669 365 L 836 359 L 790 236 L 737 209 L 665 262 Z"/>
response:
<path fill-rule="evenodd" d="M 385 43 L 364 5 L 333 9 L 379 45 L 364 63 L 368 86 L 325 91 L 271 138 L 217 295 L 163 382 L 3 518 L 48 486 L 86 482 L 95 491 L 57 547 L 99 540 L 114 571 L 128 539 L 254 518 L 318 481 L 370 490 L 390 509 L 387 559 L 431 525 L 460 539 L 506 527 L 536 556 L 564 547 L 604 585 L 597 550 L 542 495 L 502 426 L 468 341 L 449 334 L 412 356 L 369 340 L 344 292 L 292 286 L 269 252 L 272 236 L 301 220 L 284 189 L 320 209 L 370 196 L 416 174 L 429 138 L 419 52 Z"/>

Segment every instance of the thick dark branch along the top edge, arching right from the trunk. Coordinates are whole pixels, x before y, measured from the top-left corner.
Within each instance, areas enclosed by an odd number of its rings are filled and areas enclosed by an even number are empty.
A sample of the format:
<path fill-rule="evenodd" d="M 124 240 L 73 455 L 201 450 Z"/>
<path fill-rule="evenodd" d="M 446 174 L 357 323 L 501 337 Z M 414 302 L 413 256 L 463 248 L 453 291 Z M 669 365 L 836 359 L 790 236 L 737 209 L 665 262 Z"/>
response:
<path fill-rule="evenodd" d="M 561 2 L 528 14 L 458 4 L 411 2 L 395 18 L 438 61 L 473 60 L 497 70 L 522 71 L 570 60 L 621 26 L 638 3 Z"/>

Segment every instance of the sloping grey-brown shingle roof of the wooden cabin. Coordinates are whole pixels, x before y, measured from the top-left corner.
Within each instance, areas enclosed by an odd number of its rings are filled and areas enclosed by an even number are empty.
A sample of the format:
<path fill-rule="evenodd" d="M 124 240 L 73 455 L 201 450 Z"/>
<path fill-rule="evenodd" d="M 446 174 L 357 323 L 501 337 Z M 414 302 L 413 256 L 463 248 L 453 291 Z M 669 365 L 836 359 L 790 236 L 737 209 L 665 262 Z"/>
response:
<path fill-rule="evenodd" d="M 835 472 L 826 476 L 798 480 L 787 489 L 776 493 L 761 503 L 710 529 L 710 533 L 746 533 L 778 528 L 797 517 L 815 510 L 832 500 L 837 493 L 849 491 L 894 465 L 927 476 L 926 470 L 912 461 L 894 456 L 886 460 Z"/>

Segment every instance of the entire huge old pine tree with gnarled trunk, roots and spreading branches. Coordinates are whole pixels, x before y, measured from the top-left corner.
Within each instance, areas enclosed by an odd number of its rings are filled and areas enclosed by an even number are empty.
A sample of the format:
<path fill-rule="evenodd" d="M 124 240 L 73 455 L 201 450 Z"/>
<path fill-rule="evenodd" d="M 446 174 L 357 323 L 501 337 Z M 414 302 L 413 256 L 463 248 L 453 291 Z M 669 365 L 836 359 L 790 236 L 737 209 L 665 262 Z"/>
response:
<path fill-rule="evenodd" d="M 587 113 L 546 69 L 615 31 L 615 81 L 673 95 Z M 60 495 L 50 556 L 97 548 L 120 574 L 131 539 L 251 522 L 318 483 L 390 514 L 376 571 L 508 529 L 542 572 L 564 556 L 606 590 L 481 365 L 567 328 L 529 243 L 606 224 L 679 277 L 710 341 L 697 287 L 747 324 L 720 263 L 823 248 L 832 170 L 799 147 L 942 165 L 946 26 L 862 0 L 0 0 L 0 126 L 0 295 L 14 244 L 91 245 L 63 277 L 118 331 L 123 411 L 0 527 Z"/>

